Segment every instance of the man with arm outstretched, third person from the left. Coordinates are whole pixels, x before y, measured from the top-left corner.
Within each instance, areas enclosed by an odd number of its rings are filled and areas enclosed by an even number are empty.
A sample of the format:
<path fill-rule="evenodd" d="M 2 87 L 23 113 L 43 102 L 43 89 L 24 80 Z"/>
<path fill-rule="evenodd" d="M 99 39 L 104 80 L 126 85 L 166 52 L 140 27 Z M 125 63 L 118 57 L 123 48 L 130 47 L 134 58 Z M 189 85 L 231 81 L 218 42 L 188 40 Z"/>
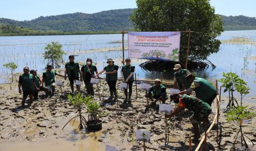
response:
<path fill-rule="evenodd" d="M 55 75 L 59 75 L 61 77 L 64 77 L 61 74 L 57 74 L 56 71 L 52 71 L 52 65 L 47 65 L 46 67 L 47 71 L 43 72 L 43 78 L 42 78 L 42 84 L 45 83 L 45 95 L 46 97 L 51 94 L 54 95 L 55 92 Z"/>

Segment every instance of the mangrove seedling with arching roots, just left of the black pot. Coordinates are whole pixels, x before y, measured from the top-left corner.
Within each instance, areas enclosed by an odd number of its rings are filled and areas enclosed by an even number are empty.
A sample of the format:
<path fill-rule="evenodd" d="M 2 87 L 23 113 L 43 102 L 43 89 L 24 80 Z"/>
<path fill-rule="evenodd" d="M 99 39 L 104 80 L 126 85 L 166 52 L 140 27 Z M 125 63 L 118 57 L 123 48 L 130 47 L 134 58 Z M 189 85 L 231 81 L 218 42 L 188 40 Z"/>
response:
<path fill-rule="evenodd" d="M 62 128 L 62 130 L 64 129 L 64 127 L 75 118 L 79 117 L 80 119 L 80 124 L 79 124 L 79 129 L 83 129 L 86 124 L 86 119 L 83 117 L 83 115 L 81 114 L 81 110 L 86 106 L 86 104 L 90 104 L 90 102 L 92 101 L 93 97 L 92 96 L 83 96 L 80 92 L 78 92 L 78 94 L 76 94 L 75 96 L 72 95 L 68 95 L 68 100 L 70 101 L 70 103 L 73 104 L 74 108 L 77 109 L 78 111 L 78 115 L 76 115 L 75 117 L 73 117 L 72 119 L 70 119 Z M 73 123 L 74 125 L 74 123 Z"/>

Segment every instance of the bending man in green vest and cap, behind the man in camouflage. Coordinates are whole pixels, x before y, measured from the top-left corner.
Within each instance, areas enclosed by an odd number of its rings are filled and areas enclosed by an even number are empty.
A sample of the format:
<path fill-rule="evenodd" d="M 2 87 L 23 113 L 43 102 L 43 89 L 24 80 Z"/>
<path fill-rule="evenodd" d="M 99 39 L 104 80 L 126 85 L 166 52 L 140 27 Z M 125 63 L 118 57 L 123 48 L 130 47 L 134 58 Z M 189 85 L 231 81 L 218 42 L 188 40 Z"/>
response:
<path fill-rule="evenodd" d="M 186 79 L 191 86 L 187 90 L 179 92 L 179 94 L 190 95 L 192 91 L 195 91 L 195 97 L 211 106 L 211 103 L 213 103 L 217 95 L 217 90 L 214 86 L 204 78 L 194 77 L 192 74 L 187 75 Z"/>

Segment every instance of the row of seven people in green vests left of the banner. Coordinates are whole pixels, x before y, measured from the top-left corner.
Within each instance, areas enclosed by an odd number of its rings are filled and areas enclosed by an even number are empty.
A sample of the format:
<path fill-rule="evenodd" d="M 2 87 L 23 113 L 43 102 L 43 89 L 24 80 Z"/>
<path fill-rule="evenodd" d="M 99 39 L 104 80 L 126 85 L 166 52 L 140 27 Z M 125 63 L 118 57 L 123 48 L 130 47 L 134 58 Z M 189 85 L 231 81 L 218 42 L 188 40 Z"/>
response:
<path fill-rule="evenodd" d="M 92 59 L 88 58 L 81 69 L 79 63 L 75 62 L 74 59 L 74 55 L 69 56 L 69 61 L 65 65 L 64 75 L 58 74 L 56 71 L 52 70 L 52 65 L 47 65 L 46 72 L 43 72 L 42 79 L 37 76 L 36 70 L 32 69 L 30 71 L 29 67 L 24 67 L 24 73 L 20 75 L 18 84 L 19 93 L 21 94 L 23 92 L 23 101 L 21 102 L 21 105 L 25 105 L 25 100 L 28 96 L 30 98 L 29 104 L 31 104 L 33 102 L 33 97 L 35 100 L 38 98 L 39 91 L 45 91 L 46 97 L 48 95 L 54 95 L 55 75 L 64 77 L 65 80 L 68 77 L 72 93 L 74 93 L 75 80 L 84 82 L 87 94 L 93 96 L 94 88 L 91 83 L 91 78 L 100 78 L 99 75 L 105 72 L 106 82 L 110 88 L 110 97 L 108 97 L 108 101 L 116 101 L 118 99 L 116 83 L 119 67 L 114 64 L 115 61 L 113 61 L 113 59 L 107 59 L 108 65 L 100 72 L 97 72 L 97 67 L 92 63 Z M 121 70 L 123 82 L 127 83 L 129 89 L 129 92 L 128 90 L 124 91 L 126 96 L 125 102 L 131 101 L 132 85 L 134 81 L 133 73 L 135 67 L 130 64 L 130 61 L 131 60 L 127 58 L 125 60 L 125 65 Z M 79 85 L 77 85 L 77 90 L 80 91 Z"/>

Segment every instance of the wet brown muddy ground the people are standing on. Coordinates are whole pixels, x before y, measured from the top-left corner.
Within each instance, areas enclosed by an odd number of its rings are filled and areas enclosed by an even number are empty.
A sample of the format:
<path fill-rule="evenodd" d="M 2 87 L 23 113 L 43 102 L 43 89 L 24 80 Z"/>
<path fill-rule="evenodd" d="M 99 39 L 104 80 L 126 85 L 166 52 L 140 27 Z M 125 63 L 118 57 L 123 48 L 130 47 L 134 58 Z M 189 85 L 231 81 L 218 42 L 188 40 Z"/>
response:
<path fill-rule="evenodd" d="M 123 91 L 118 88 L 118 102 L 111 103 L 100 101 L 99 96 L 94 99 L 102 104 L 102 111 L 108 114 L 102 117 L 103 129 L 98 132 L 86 132 L 78 130 L 79 121 L 72 120 L 64 130 L 62 127 L 69 119 L 77 115 L 72 104 L 67 100 L 70 93 L 68 83 L 64 83 L 61 92 L 56 88 L 55 96 L 44 98 L 40 92 L 40 98 L 31 106 L 21 107 L 21 97 L 18 94 L 18 84 L 0 84 L 0 150 L 105 150 L 105 145 L 116 146 L 119 150 L 132 150 L 132 138 L 138 129 L 150 132 L 150 142 L 146 142 L 147 150 L 188 150 L 189 136 L 193 135 L 193 128 L 189 121 L 192 113 L 184 111 L 179 116 L 172 118 L 168 144 L 165 146 L 164 113 L 158 112 L 158 106 L 145 109 L 145 91 L 138 90 L 138 98 L 135 99 L 135 84 L 133 87 L 133 100 L 131 104 L 123 104 Z M 101 80 L 101 100 L 106 100 L 108 91 L 106 82 Z M 117 84 L 119 87 L 119 83 Z M 95 90 L 96 90 L 96 85 Z M 139 86 L 138 86 L 139 88 Z M 103 91 L 102 91 L 103 90 Z M 85 93 L 84 85 L 81 91 Z M 95 94 L 98 94 L 96 91 Z M 234 136 L 238 131 L 235 124 L 225 120 L 226 98 L 222 98 L 220 111 L 220 138 L 216 141 L 216 124 L 209 134 L 208 150 L 242 150 L 241 144 L 233 145 Z M 255 100 L 255 98 L 252 98 Z M 158 102 L 159 103 L 159 102 Z M 170 100 L 167 101 L 169 104 Z M 246 104 L 246 103 L 244 103 Z M 256 112 L 256 104 L 249 104 L 250 111 Z M 213 113 L 210 121 L 216 113 L 216 100 L 213 103 Z M 84 109 L 84 116 L 87 113 Z M 256 143 L 256 118 L 244 121 L 244 133 Z M 203 125 L 200 125 L 203 136 Z M 193 137 L 192 137 L 193 138 Z M 134 150 L 141 150 L 143 142 L 134 142 Z M 256 147 L 249 145 L 249 150 Z M 192 143 L 193 149 L 197 143 Z"/>

